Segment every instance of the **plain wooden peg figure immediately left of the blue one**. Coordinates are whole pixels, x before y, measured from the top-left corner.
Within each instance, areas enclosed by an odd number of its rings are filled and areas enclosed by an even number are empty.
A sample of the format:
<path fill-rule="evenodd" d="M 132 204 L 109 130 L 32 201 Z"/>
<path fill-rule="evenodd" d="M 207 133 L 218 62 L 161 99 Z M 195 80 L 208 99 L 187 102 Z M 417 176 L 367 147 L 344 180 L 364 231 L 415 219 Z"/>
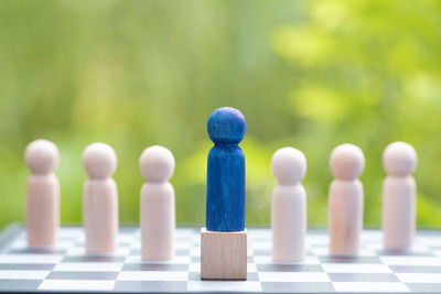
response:
<path fill-rule="evenodd" d="M 174 157 L 166 148 L 146 149 L 139 160 L 147 183 L 141 188 L 141 251 L 143 260 L 171 260 L 174 255 L 174 189 L 169 179 Z"/>

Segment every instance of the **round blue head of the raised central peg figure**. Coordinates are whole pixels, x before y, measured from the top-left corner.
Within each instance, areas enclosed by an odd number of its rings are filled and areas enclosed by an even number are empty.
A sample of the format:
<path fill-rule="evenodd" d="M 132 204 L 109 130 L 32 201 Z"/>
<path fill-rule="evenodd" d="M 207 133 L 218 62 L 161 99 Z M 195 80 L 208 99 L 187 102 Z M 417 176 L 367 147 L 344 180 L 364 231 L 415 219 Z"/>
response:
<path fill-rule="evenodd" d="M 233 107 L 222 107 L 209 116 L 208 135 L 214 143 L 238 144 L 247 130 L 244 115 Z"/>

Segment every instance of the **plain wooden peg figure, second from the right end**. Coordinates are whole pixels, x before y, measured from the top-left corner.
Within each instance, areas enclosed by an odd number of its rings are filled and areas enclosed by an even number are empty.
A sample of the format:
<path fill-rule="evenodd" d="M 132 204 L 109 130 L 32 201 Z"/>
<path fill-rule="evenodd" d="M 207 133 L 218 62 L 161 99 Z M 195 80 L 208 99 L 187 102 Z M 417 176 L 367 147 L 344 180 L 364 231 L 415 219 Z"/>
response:
<path fill-rule="evenodd" d="M 363 230 L 363 185 L 358 179 L 365 166 L 363 151 L 353 144 L 336 146 L 331 154 L 331 172 L 335 179 L 330 187 L 330 253 L 358 253 Z"/>

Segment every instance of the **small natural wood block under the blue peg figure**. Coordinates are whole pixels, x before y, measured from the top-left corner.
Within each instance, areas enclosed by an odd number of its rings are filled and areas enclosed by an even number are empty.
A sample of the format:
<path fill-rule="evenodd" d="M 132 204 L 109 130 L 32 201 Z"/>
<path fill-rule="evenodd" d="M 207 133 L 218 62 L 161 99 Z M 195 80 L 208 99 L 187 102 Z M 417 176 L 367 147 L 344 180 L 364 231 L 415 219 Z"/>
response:
<path fill-rule="evenodd" d="M 201 230 L 201 279 L 247 279 L 247 230 Z"/>

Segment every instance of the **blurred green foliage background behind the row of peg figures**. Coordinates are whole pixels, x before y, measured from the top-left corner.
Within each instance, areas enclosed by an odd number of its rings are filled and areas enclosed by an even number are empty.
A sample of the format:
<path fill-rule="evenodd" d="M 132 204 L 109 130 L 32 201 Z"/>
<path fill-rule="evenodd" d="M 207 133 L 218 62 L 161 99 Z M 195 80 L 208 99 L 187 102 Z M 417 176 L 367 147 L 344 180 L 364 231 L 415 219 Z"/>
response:
<path fill-rule="evenodd" d="M 121 222 L 138 222 L 138 160 L 176 159 L 180 225 L 205 218 L 206 120 L 222 106 L 248 130 L 247 225 L 269 225 L 272 153 L 308 159 L 310 226 L 326 226 L 329 155 L 366 156 L 365 224 L 380 222 L 381 153 L 411 143 L 418 225 L 441 226 L 441 1 L 0 0 L 0 227 L 24 221 L 26 144 L 61 150 L 62 221 L 82 221 L 80 154 L 118 154 Z"/>

